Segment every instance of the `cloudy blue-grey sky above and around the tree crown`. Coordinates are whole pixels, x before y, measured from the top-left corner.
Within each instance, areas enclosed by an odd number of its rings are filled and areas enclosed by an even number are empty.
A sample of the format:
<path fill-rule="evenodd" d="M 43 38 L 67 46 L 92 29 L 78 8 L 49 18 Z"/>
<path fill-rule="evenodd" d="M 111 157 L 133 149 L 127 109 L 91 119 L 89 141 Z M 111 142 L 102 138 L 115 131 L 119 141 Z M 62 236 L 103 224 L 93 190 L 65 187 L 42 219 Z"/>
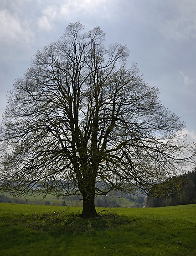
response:
<path fill-rule="evenodd" d="M 195 0 L 0 0 L 0 120 L 6 92 L 33 55 L 76 21 L 87 31 L 100 26 L 106 44 L 127 44 L 127 67 L 138 64 L 196 141 Z"/>

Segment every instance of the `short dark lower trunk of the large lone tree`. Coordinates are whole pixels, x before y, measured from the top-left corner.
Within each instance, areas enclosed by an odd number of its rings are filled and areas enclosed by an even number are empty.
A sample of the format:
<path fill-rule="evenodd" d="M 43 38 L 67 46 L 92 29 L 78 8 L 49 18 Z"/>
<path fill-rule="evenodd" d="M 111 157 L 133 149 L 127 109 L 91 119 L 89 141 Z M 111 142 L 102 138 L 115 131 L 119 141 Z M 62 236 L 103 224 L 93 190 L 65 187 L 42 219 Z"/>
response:
<path fill-rule="evenodd" d="M 83 212 L 81 214 L 81 217 L 86 219 L 100 217 L 95 209 L 94 195 L 90 197 L 83 196 Z"/>

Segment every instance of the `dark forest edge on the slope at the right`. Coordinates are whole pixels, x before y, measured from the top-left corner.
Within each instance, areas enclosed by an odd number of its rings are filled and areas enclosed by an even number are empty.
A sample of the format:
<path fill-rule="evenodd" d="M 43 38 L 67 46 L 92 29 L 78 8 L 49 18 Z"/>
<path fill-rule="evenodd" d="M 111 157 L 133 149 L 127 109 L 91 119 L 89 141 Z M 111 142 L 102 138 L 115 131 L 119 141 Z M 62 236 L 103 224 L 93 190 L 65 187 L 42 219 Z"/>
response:
<path fill-rule="evenodd" d="M 147 197 L 146 207 L 164 207 L 196 203 L 196 168 L 192 172 L 173 177 L 165 183 L 166 184 L 161 184 L 164 189 L 160 197 Z M 179 184 L 179 187 L 177 187 L 176 184 Z M 155 186 L 154 190 L 161 191 L 161 185 Z"/>

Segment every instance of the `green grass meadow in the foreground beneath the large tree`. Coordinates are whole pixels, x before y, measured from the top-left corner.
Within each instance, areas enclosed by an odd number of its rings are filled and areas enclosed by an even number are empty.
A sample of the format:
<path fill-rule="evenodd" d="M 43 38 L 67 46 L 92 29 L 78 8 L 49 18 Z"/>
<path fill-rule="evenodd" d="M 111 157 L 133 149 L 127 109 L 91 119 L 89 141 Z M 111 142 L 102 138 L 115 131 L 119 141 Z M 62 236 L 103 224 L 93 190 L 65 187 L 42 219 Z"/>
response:
<path fill-rule="evenodd" d="M 196 205 L 113 208 L 100 219 L 79 211 L 0 203 L 0 255 L 196 255 Z"/>

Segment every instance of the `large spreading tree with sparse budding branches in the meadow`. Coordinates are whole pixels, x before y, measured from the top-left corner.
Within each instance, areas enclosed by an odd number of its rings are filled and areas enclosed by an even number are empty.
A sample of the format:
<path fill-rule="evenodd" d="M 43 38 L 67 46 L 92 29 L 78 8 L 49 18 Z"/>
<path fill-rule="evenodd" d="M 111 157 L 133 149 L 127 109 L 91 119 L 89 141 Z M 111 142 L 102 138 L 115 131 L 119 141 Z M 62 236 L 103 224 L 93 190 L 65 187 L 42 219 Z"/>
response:
<path fill-rule="evenodd" d="M 70 23 L 15 80 L 0 128 L 0 182 L 16 195 L 81 194 L 82 217 L 93 218 L 96 195 L 148 191 L 175 175 L 187 145 L 158 89 L 136 64 L 126 69 L 126 46 L 105 48 L 99 27 L 83 29 Z"/>

